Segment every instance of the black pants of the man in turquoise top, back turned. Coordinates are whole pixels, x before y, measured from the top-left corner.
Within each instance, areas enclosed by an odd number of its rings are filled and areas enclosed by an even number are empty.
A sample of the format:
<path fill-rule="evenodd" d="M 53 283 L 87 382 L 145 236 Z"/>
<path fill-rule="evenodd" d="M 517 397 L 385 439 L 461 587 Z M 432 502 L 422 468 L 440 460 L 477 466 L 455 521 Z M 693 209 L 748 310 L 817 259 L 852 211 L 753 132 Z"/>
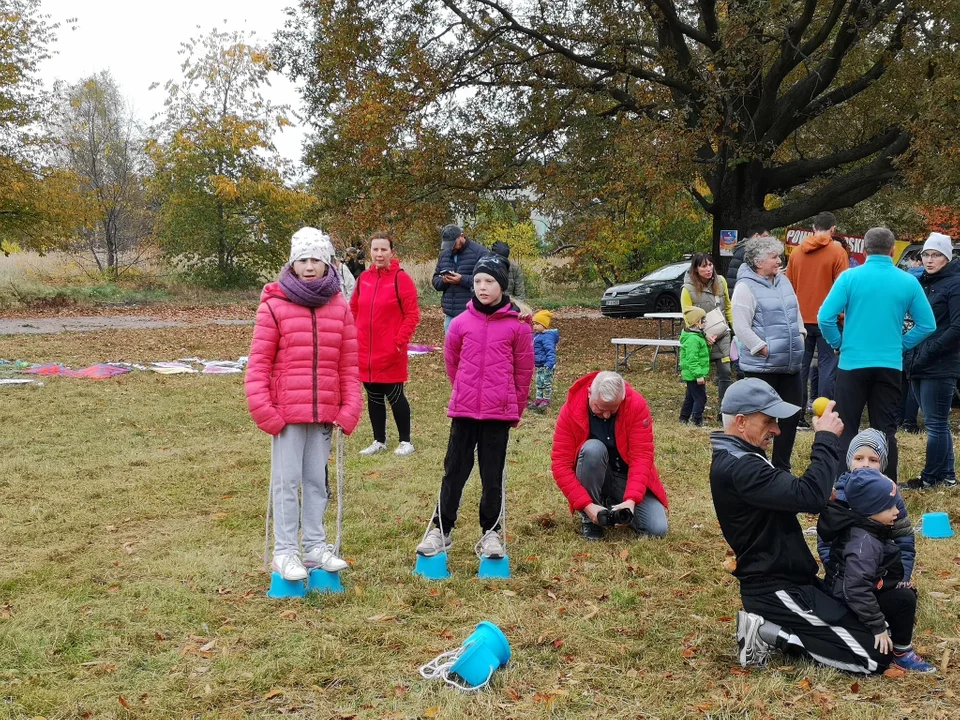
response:
<path fill-rule="evenodd" d="M 886 476 L 896 482 L 897 464 L 897 413 L 900 410 L 900 371 L 893 368 L 860 368 L 837 370 L 837 388 L 834 398 L 837 412 L 843 420 L 840 436 L 840 457 L 847 456 L 850 442 L 860 432 L 860 418 L 864 407 L 870 414 L 870 427 L 887 436 L 889 445 Z M 841 463 L 838 472 L 846 472 L 846 463 Z"/>

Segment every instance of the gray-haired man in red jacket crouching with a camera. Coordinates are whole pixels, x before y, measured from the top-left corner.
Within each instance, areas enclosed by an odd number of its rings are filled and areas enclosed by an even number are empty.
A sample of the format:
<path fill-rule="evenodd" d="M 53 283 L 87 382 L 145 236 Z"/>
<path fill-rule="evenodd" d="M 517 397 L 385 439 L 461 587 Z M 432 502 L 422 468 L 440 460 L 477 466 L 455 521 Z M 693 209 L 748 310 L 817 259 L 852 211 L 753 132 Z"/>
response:
<path fill-rule="evenodd" d="M 653 463 L 653 418 L 620 375 L 584 375 L 567 393 L 553 433 L 553 479 L 579 511 L 583 537 L 629 525 L 637 535 L 667 534 L 667 493 Z"/>

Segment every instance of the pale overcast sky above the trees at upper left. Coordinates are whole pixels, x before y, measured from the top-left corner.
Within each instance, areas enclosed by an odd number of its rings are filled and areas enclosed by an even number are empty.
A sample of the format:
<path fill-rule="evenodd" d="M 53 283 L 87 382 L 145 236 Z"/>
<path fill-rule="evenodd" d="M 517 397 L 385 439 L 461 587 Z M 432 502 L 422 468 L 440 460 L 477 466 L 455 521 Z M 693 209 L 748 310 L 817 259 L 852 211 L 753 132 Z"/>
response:
<path fill-rule="evenodd" d="M 163 83 L 180 77 L 183 56 L 177 51 L 181 43 L 214 27 L 253 30 L 257 40 L 267 43 L 283 26 L 284 8 L 294 4 L 292 0 L 41 0 L 42 12 L 51 16 L 51 22 L 60 22 L 51 48 L 56 54 L 44 64 L 41 76 L 52 85 L 54 80 L 72 83 L 110 70 L 137 117 L 149 121 L 163 109 Z M 76 21 L 67 23 L 67 18 Z M 154 82 L 160 87 L 150 90 Z M 271 85 L 264 92 L 270 100 L 299 109 L 292 83 L 274 75 Z M 277 133 L 275 142 L 284 157 L 300 161 L 302 129 L 287 128 Z"/>

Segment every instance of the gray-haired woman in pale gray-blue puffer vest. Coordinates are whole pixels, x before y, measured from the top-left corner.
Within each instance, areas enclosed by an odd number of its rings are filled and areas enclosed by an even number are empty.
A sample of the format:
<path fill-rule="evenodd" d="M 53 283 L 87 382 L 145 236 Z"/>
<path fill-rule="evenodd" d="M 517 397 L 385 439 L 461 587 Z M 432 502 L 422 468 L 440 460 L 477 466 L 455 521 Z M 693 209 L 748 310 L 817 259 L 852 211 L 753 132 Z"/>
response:
<path fill-rule="evenodd" d="M 740 369 L 769 384 L 797 414 L 780 421 L 773 441 L 773 465 L 790 471 L 803 402 L 800 365 L 805 329 L 800 304 L 787 276 L 780 272 L 783 244 L 774 237 L 750 240 L 733 290 L 733 332 L 740 349 Z"/>

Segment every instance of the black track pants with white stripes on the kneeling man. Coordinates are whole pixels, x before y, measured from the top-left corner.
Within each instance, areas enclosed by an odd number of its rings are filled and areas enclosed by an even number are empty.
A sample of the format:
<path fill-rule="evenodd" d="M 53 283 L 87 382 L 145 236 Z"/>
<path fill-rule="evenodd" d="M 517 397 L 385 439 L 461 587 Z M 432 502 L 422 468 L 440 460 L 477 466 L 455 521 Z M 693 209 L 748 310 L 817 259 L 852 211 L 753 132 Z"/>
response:
<path fill-rule="evenodd" d="M 890 664 L 892 656 L 873 647 L 873 633 L 819 585 L 794 585 L 741 597 L 744 610 L 783 628 L 790 636 L 788 650 L 848 672 L 882 672 Z"/>

